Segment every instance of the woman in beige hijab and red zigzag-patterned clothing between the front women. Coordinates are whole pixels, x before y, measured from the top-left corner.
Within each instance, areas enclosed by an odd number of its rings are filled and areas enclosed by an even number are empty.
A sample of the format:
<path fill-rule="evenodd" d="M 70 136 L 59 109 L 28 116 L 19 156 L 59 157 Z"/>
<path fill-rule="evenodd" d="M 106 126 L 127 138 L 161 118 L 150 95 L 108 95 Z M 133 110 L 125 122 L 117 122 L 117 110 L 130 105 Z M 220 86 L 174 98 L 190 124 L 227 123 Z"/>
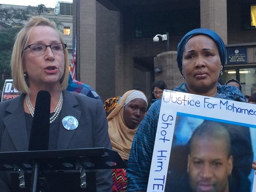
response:
<path fill-rule="evenodd" d="M 146 114 L 148 101 L 142 91 L 127 91 L 119 100 L 117 106 L 108 115 L 108 133 L 113 150 L 116 150 L 127 163 L 133 137 Z M 127 177 L 125 169 L 114 169 L 112 191 L 126 189 Z"/>

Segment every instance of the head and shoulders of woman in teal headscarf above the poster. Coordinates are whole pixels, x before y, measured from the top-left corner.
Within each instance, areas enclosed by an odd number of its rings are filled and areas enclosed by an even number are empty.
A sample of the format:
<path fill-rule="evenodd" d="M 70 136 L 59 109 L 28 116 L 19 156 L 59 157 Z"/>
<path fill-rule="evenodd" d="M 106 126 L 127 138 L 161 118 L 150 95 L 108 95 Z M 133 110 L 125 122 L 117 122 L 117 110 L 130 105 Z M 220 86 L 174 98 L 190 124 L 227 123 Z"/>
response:
<path fill-rule="evenodd" d="M 206 28 L 188 32 L 177 47 L 177 64 L 185 82 L 174 91 L 246 102 L 237 87 L 218 83 L 225 62 L 225 44 L 216 32 Z"/>

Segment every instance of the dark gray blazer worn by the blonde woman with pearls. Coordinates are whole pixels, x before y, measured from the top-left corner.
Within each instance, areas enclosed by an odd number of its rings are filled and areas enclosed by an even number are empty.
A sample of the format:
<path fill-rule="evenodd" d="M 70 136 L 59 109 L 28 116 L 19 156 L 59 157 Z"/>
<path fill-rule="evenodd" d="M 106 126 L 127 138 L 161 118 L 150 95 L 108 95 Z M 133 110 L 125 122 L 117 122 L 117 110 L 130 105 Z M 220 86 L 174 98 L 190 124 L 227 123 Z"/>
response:
<path fill-rule="evenodd" d="M 29 139 L 23 108 L 25 94 L 0 102 L 0 151 L 27 151 Z M 60 119 L 73 116 L 78 128 L 66 130 L 60 121 L 57 149 L 106 147 L 112 149 L 105 110 L 99 100 L 63 91 Z M 97 191 L 112 191 L 112 170 L 96 173 Z M 0 182 L 1 184 L 1 182 Z"/>

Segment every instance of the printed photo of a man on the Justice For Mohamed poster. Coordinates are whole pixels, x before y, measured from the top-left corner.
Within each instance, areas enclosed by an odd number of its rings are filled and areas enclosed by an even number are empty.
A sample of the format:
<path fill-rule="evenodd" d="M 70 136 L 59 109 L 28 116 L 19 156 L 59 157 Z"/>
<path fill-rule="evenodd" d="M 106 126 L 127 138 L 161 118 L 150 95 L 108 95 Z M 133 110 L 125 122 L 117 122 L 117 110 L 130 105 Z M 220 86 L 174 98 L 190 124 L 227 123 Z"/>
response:
<path fill-rule="evenodd" d="M 182 128 L 191 132 L 189 140 Z M 249 127 L 182 114 L 176 118 L 165 191 L 251 192 L 252 162 Z"/>

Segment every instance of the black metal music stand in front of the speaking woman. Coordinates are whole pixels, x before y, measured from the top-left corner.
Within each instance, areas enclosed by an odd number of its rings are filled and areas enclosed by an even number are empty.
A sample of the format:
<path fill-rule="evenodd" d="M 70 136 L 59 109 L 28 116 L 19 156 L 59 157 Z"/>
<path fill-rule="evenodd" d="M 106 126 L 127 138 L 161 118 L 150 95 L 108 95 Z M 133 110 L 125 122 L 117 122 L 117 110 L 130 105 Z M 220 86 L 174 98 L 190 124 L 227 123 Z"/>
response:
<path fill-rule="evenodd" d="M 20 188 L 25 188 L 25 173 L 31 173 L 32 192 L 38 190 L 41 172 L 80 173 L 80 187 L 87 188 L 88 171 L 118 168 L 126 168 L 126 164 L 116 151 L 107 148 L 0 152 L 0 171 L 19 173 Z M 96 180 L 95 174 L 90 179 Z"/>

